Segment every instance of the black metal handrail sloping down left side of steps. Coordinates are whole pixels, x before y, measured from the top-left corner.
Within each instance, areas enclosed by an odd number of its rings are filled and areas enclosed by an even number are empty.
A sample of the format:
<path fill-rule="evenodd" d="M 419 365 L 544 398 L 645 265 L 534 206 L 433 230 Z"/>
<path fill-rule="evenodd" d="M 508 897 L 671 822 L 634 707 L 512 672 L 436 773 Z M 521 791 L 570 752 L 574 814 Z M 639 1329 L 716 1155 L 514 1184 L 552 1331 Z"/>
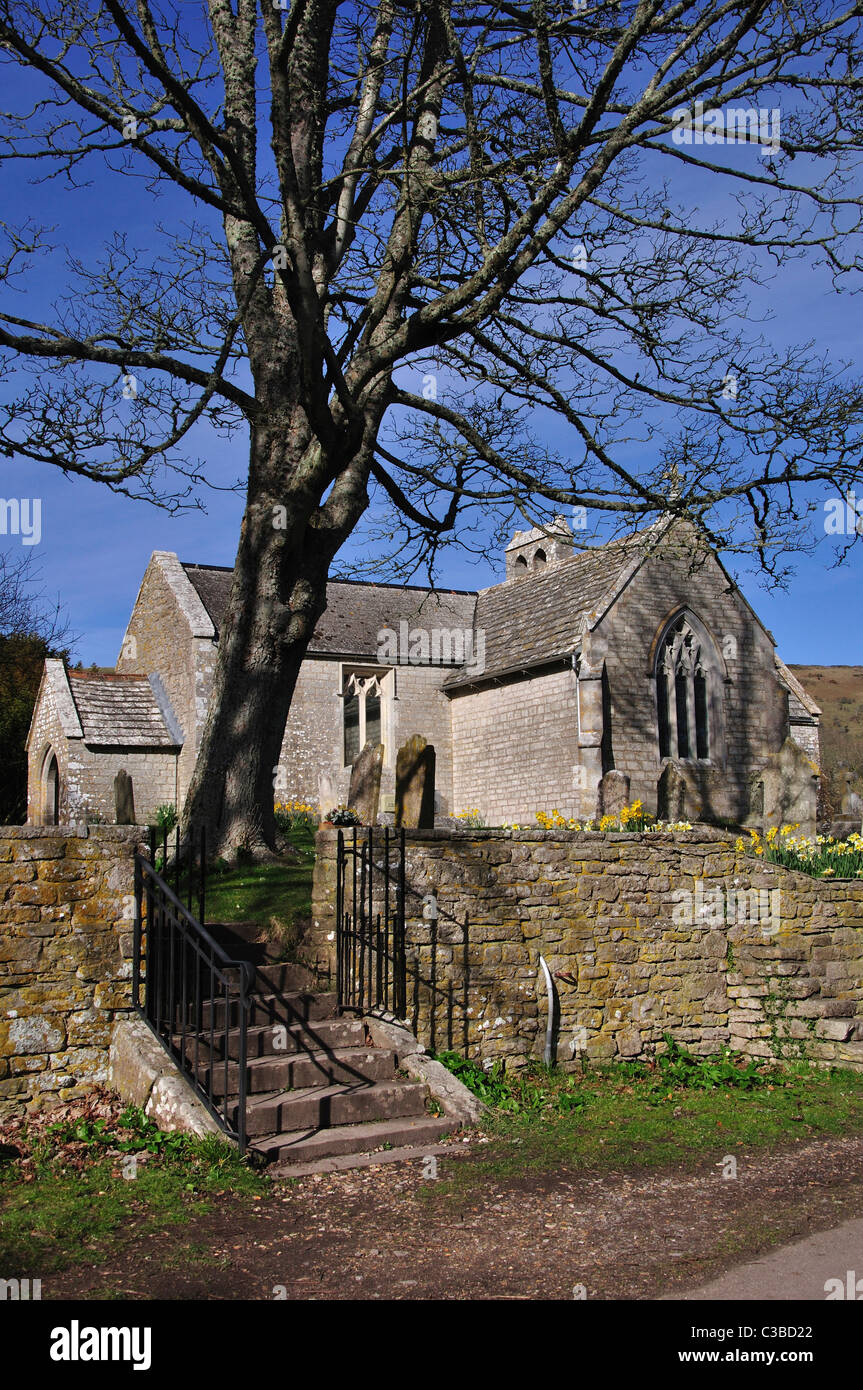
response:
<path fill-rule="evenodd" d="M 142 1001 L 142 947 L 145 937 L 145 897 L 147 956 L 143 977 Z M 167 942 L 164 940 L 167 929 Z M 179 945 L 179 972 L 175 969 L 175 942 Z M 192 972 L 189 972 L 189 952 Z M 208 991 L 202 991 L 202 970 L 207 973 Z M 179 981 L 178 981 L 179 973 Z M 189 976 L 193 979 L 189 979 Z M 233 977 L 232 977 L 233 976 Z M 217 992 L 217 981 L 222 992 Z M 249 960 L 236 960 L 215 941 L 207 929 L 192 915 L 174 890 L 156 872 L 143 855 L 135 856 L 135 935 L 132 955 L 132 1004 L 136 1012 L 158 1038 L 161 1045 L 179 1065 L 181 1072 L 195 1088 L 199 1099 L 215 1119 L 217 1125 L 236 1138 L 240 1154 L 246 1151 L 246 1101 L 247 1101 L 247 1030 L 250 1011 L 250 990 L 254 984 L 254 966 Z M 239 1047 L 238 1047 L 238 1106 L 236 1125 L 229 1120 L 229 1048 L 231 1004 L 236 995 L 239 1005 Z M 208 1006 L 208 1084 L 204 1087 L 199 1074 L 204 1008 Z M 224 1008 L 224 1026 L 215 1027 L 217 1006 Z M 178 1029 L 179 1011 L 179 1029 Z M 195 1041 L 195 1063 L 189 1062 L 189 1011 L 193 1011 L 192 1037 Z M 179 1045 L 175 1036 L 179 1031 Z M 215 1105 L 213 1095 L 215 1042 L 220 1037 L 224 1059 L 224 1102 Z"/>

